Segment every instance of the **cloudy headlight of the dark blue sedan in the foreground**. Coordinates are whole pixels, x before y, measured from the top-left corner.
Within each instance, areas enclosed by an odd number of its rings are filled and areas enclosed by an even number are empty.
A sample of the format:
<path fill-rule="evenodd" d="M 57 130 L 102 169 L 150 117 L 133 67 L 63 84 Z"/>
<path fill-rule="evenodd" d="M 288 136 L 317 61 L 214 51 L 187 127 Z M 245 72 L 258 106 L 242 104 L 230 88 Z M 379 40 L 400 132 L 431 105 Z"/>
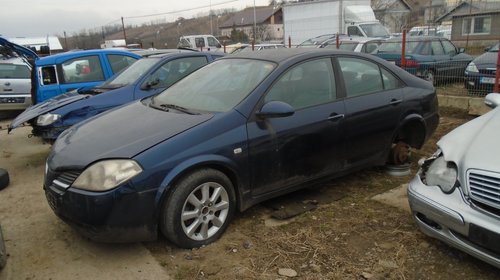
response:
<path fill-rule="evenodd" d="M 142 172 L 130 159 L 104 160 L 92 164 L 76 178 L 72 187 L 88 191 L 108 191 Z"/>

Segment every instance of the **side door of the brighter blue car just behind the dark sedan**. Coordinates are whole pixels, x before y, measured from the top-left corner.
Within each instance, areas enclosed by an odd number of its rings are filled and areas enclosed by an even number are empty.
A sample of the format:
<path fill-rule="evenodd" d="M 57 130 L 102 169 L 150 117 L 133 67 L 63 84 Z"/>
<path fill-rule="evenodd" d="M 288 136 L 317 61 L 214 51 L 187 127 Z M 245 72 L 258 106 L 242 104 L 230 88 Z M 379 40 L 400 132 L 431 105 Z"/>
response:
<path fill-rule="evenodd" d="M 136 86 L 134 99 L 157 94 L 207 64 L 208 58 L 205 55 L 164 60 Z"/>

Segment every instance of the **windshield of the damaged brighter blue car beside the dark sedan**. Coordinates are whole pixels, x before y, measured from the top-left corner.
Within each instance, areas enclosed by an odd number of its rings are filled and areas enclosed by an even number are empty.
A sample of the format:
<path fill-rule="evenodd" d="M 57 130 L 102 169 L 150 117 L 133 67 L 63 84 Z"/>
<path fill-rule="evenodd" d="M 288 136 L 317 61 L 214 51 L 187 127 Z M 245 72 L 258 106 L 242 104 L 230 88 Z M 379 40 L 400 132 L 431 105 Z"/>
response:
<path fill-rule="evenodd" d="M 158 62 L 159 58 L 149 57 L 139 59 L 130 67 L 126 68 L 116 76 L 112 77 L 105 83 L 103 83 L 100 88 L 119 88 L 126 85 L 130 85 L 137 81 L 146 71 L 148 71 L 153 65 Z"/>

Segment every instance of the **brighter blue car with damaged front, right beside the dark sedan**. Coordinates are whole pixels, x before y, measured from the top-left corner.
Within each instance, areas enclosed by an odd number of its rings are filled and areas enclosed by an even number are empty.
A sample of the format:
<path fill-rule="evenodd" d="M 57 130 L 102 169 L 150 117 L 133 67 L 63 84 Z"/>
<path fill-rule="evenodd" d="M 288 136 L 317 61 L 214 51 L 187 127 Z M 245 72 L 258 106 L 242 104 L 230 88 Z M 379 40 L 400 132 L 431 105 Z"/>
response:
<path fill-rule="evenodd" d="M 33 135 L 53 141 L 75 123 L 157 94 L 223 55 L 174 49 L 143 58 L 99 86 L 73 90 L 31 106 L 12 121 L 9 132 L 29 122 Z"/>

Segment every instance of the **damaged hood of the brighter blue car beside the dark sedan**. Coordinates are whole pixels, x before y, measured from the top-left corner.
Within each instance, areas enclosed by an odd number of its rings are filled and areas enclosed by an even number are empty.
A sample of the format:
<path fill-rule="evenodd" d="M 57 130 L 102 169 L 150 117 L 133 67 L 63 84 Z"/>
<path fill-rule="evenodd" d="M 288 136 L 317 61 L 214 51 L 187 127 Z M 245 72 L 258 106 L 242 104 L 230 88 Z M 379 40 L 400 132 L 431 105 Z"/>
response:
<path fill-rule="evenodd" d="M 88 94 L 79 94 L 77 91 L 71 91 L 65 94 L 58 95 L 54 98 L 46 100 L 42 103 L 30 106 L 19 114 L 9 125 L 9 132 L 19 125 L 30 121 L 40 115 L 53 111 L 62 106 L 68 105 L 75 101 L 87 98 Z"/>

